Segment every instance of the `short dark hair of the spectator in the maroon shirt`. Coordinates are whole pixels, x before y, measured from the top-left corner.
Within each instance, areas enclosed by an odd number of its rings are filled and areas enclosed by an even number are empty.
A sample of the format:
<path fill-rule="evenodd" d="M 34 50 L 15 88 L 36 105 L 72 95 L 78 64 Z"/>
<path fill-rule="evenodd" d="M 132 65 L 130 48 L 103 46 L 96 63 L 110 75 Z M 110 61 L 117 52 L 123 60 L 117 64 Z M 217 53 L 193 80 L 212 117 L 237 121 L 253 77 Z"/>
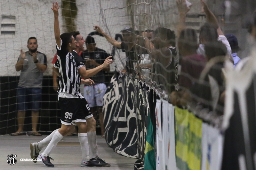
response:
<path fill-rule="evenodd" d="M 188 50 L 196 50 L 198 47 L 196 30 L 188 28 L 182 30 L 178 42 Z"/>

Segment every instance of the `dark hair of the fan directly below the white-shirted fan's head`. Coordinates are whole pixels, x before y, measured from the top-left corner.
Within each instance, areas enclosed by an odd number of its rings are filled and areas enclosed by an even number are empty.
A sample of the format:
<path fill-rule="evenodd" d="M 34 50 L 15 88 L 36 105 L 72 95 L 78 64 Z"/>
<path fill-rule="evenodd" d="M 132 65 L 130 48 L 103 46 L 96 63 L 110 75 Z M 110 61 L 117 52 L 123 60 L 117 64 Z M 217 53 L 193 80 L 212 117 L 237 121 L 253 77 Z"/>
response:
<path fill-rule="evenodd" d="M 227 55 L 227 47 L 220 41 L 206 43 L 204 50 L 205 55 L 209 58 Z"/>

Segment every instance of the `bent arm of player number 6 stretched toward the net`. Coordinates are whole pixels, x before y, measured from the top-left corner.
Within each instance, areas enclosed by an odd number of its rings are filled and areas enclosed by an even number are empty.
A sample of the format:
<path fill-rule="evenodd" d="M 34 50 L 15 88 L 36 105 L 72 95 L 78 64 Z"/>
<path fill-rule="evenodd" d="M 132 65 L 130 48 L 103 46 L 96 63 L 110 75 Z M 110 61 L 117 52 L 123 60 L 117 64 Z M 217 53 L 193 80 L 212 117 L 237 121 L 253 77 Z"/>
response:
<path fill-rule="evenodd" d="M 98 67 L 95 67 L 93 69 L 90 69 L 90 70 L 86 70 L 85 67 L 80 67 L 78 69 L 78 73 L 80 74 L 80 76 L 82 76 L 82 78 L 86 79 L 86 78 L 89 78 L 89 77 L 92 77 L 94 76 L 95 74 L 97 74 L 98 72 L 100 72 L 101 70 L 103 70 L 104 68 L 107 68 L 109 66 L 109 64 L 111 64 L 113 62 L 112 59 L 110 59 L 110 57 L 112 56 L 109 56 L 103 64 L 101 64 L 100 66 Z"/>

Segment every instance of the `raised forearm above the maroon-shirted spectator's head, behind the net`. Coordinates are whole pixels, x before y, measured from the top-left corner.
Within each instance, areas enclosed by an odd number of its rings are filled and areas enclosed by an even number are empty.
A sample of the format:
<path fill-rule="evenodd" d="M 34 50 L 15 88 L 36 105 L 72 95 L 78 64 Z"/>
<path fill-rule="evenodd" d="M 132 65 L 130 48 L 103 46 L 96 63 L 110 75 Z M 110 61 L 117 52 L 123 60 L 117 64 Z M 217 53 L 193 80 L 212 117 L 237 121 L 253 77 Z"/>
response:
<path fill-rule="evenodd" d="M 190 10 L 192 4 L 187 6 L 186 0 L 176 0 L 176 4 L 177 4 L 178 11 L 179 11 L 179 14 L 180 14 L 180 21 L 179 21 L 179 24 L 177 26 L 178 37 L 180 37 L 180 32 L 183 29 L 186 28 L 186 24 L 185 24 L 186 14 Z"/>

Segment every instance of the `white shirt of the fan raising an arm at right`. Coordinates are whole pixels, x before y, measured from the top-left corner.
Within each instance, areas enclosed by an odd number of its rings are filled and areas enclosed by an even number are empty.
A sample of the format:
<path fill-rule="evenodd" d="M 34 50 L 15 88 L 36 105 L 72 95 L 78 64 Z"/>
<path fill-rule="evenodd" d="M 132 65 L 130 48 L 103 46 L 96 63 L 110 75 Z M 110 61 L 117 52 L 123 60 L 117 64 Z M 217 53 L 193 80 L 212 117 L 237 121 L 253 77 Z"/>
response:
<path fill-rule="evenodd" d="M 231 50 L 231 47 L 229 45 L 227 37 L 225 37 L 225 35 L 219 35 L 218 41 L 221 41 L 226 46 L 227 55 L 228 55 L 229 59 L 231 61 L 234 61 L 233 57 L 232 57 L 232 50 Z M 204 44 L 199 44 L 199 47 L 197 48 L 196 53 L 205 56 Z"/>

